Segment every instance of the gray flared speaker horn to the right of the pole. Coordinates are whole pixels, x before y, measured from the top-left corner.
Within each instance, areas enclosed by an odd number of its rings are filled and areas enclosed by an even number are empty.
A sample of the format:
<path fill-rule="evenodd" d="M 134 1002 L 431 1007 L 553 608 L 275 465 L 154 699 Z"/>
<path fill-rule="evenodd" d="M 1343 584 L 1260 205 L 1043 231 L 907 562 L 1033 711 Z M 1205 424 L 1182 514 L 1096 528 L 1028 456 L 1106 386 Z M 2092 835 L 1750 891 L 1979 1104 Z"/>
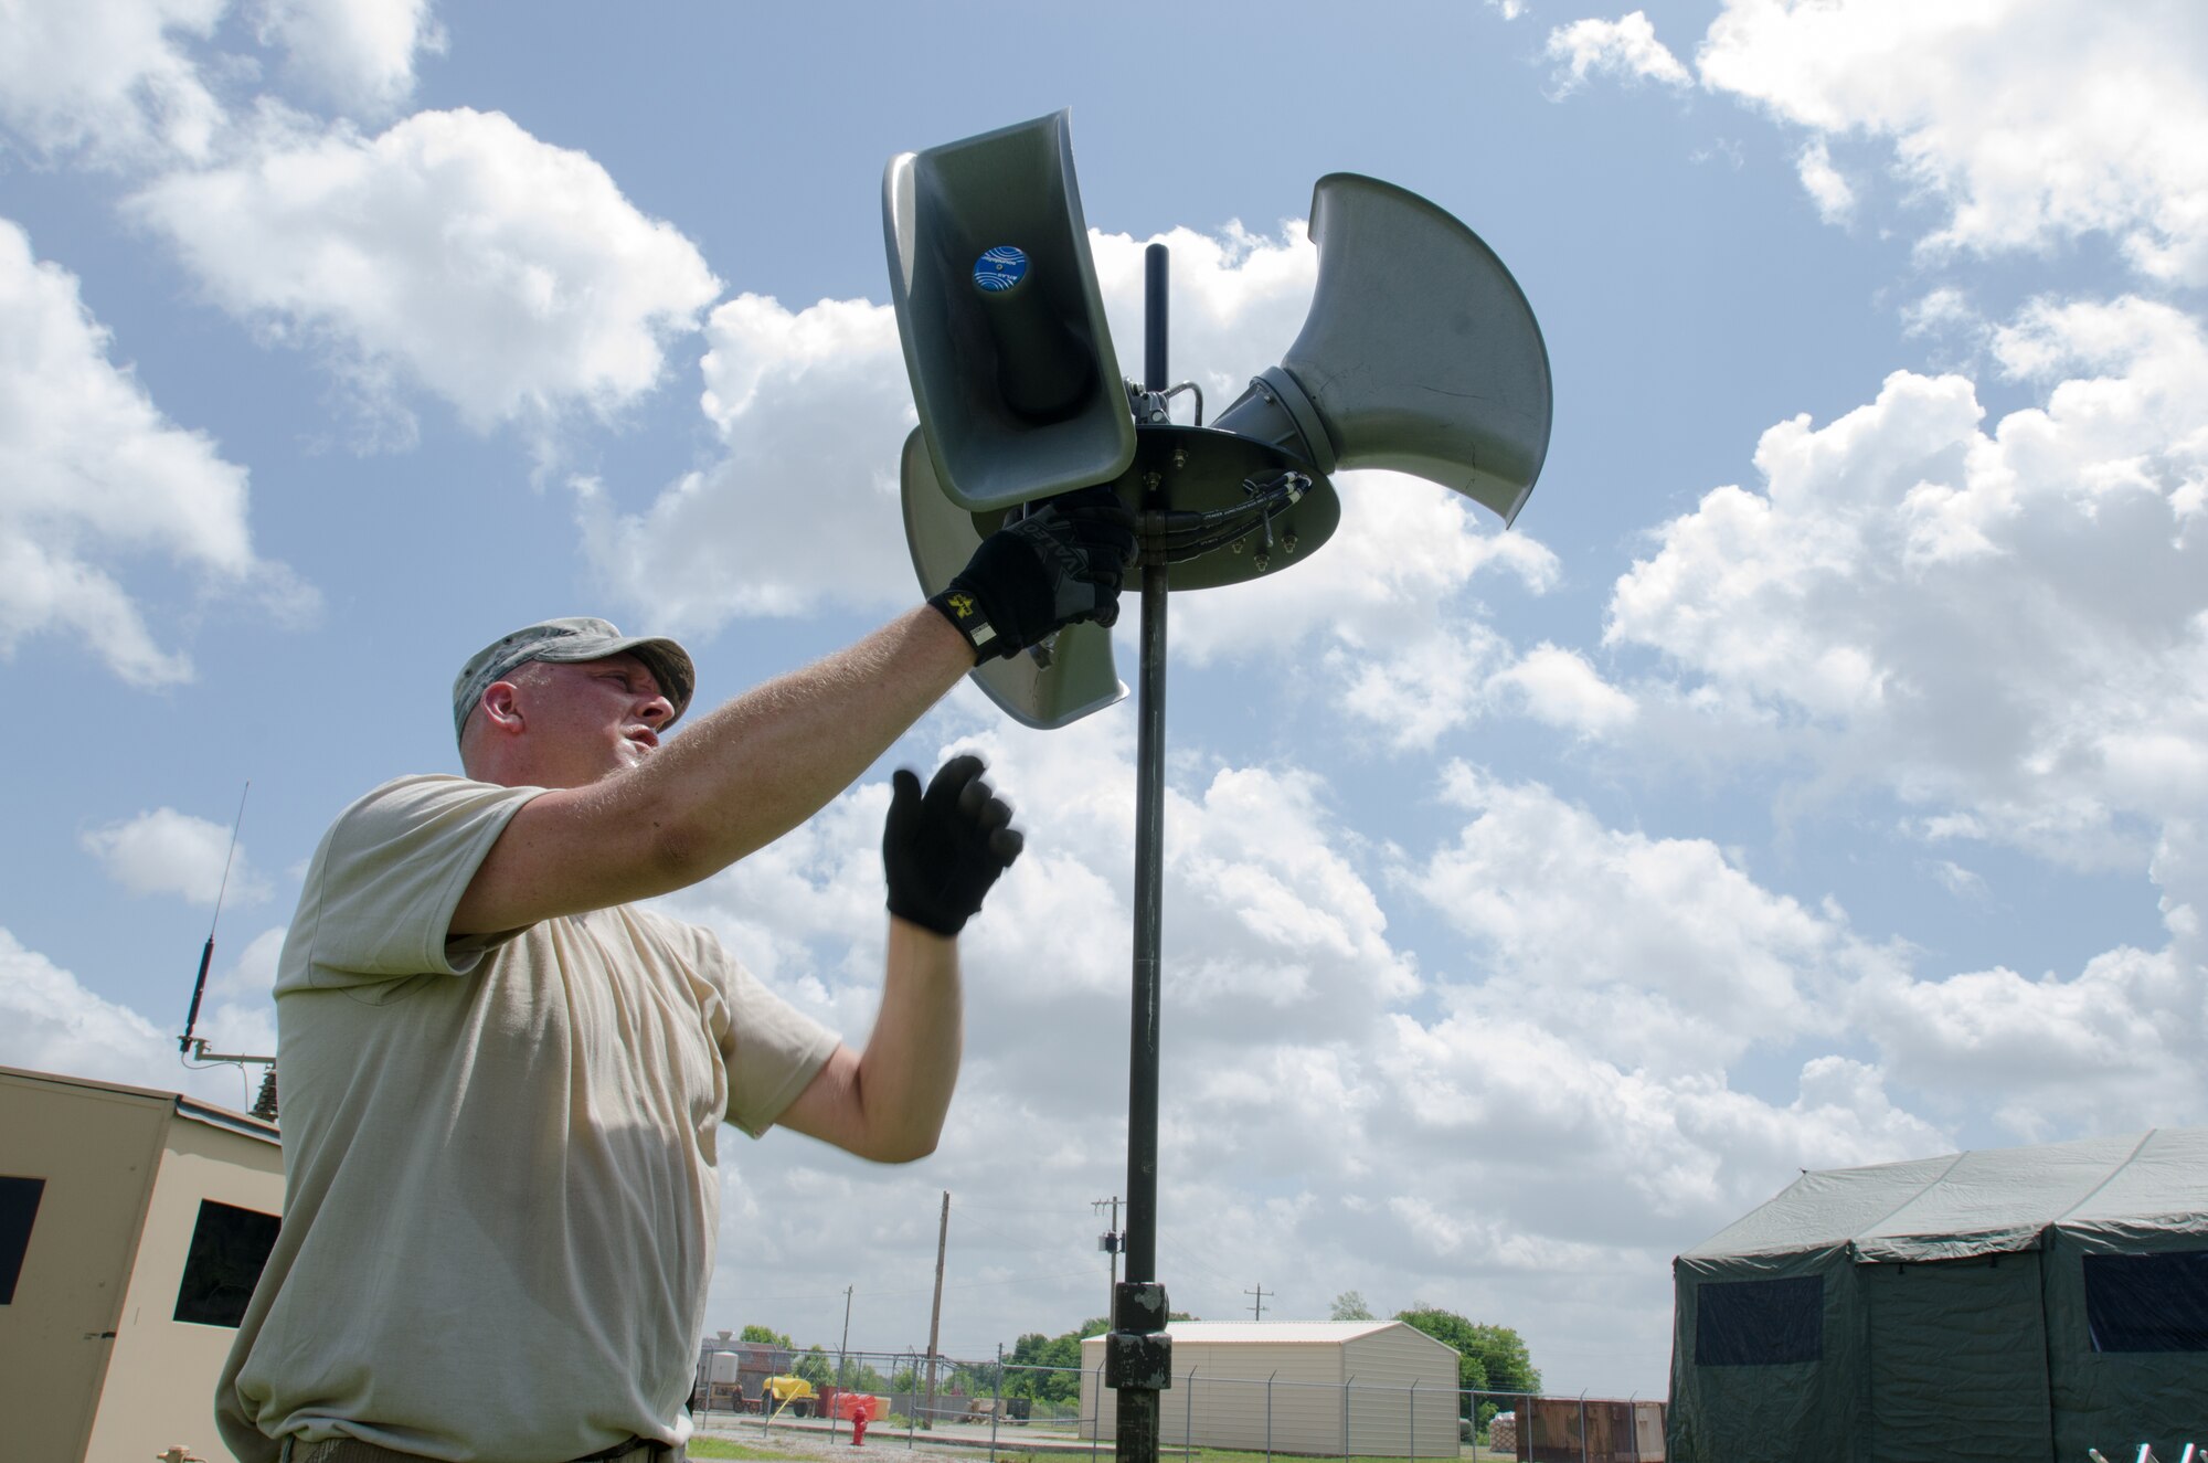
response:
<path fill-rule="evenodd" d="M 1548 347 L 1510 270 L 1426 199 L 1354 172 L 1318 179 L 1312 239 L 1303 334 L 1212 427 L 1318 473 L 1413 473 L 1510 524 L 1552 415 Z"/>

